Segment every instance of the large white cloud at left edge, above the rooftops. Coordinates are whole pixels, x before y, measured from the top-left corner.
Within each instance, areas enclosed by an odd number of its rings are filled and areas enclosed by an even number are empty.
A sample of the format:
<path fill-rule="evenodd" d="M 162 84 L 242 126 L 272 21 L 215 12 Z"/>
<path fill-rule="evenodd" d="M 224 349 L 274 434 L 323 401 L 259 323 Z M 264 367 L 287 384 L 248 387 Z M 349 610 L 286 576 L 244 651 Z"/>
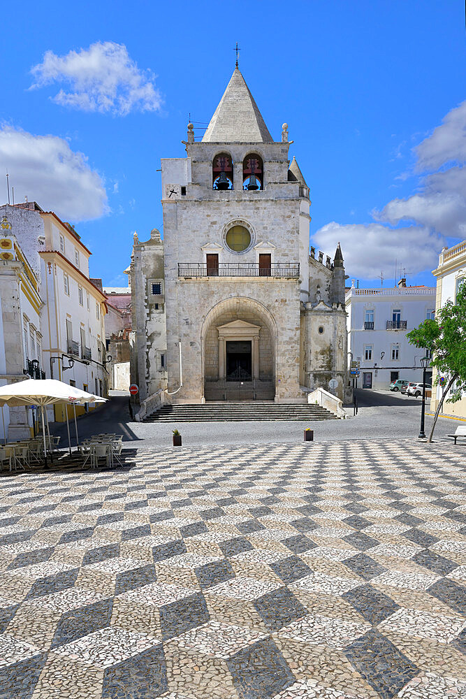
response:
<path fill-rule="evenodd" d="M 8 168 L 16 203 L 27 196 L 71 221 L 97 218 L 107 211 L 101 177 L 89 168 L 85 155 L 73 152 L 63 138 L 3 126 L 0 164 Z"/>

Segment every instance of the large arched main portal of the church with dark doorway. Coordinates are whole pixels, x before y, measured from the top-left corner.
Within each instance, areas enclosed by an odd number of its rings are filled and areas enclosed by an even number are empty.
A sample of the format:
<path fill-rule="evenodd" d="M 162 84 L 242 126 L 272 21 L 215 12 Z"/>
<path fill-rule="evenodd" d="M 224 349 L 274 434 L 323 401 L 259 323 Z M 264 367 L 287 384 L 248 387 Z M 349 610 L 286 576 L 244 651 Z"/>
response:
<path fill-rule="evenodd" d="M 201 331 L 206 401 L 275 398 L 277 326 L 264 305 L 235 296 L 220 301 Z"/>

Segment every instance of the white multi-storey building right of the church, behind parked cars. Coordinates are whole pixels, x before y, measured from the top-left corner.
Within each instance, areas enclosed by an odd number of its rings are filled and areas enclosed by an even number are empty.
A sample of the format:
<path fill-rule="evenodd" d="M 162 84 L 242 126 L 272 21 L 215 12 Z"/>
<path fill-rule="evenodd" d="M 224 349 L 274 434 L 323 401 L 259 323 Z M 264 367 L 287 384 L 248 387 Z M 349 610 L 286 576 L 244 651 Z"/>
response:
<path fill-rule="evenodd" d="M 422 381 L 421 349 L 410 345 L 407 332 L 435 317 L 435 287 L 347 289 L 348 347 L 361 362 L 358 387 L 388 389 L 396 379 Z M 431 373 L 428 373 L 430 380 Z"/>

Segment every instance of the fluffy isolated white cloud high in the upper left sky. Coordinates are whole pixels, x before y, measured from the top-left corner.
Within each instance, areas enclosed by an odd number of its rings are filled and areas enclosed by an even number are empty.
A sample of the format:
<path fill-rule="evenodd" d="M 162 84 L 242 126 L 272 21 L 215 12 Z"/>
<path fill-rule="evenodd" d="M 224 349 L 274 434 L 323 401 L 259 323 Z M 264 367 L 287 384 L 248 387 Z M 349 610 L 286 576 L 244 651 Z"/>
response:
<path fill-rule="evenodd" d="M 113 41 L 96 42 L 65 56 L 47 51 L 31 73 L 36 80 L 32 88 L 54 82 L 69 85 L 70 92 L 60 89 L 52 100 L 87 112 L 124 116 L 132 110 L 156 111 L 162 104 L 155 76 L 138 69 L 126 46 Z"/>

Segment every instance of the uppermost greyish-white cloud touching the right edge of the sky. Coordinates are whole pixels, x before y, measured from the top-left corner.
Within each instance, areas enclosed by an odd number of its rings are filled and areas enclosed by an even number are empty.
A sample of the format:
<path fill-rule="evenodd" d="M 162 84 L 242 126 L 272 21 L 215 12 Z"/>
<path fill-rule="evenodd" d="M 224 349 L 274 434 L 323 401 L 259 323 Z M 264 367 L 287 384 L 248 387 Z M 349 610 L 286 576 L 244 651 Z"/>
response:
<path fill-rule="evenodd" d="M 416 147 L 416 154 L 416 169 L 421 172 L 466 160 L 466 101 L 449 111 L 443 123 Z"/>

